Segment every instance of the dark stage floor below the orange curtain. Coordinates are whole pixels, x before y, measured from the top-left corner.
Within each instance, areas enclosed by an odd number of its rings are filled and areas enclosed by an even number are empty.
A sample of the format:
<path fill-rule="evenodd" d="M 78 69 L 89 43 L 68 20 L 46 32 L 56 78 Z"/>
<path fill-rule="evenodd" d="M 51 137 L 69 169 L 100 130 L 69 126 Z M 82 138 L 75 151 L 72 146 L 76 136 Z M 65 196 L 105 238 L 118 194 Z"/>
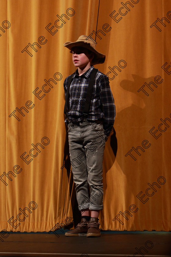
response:
<path fill-rule="evenodd" d="M 58 237 L 59 236 L 59 237 Z M 103 231 L 101 237 L 54 233 L 10 233 L 0 241 L 0 256 L 171 256 L 170 232 Z"/>

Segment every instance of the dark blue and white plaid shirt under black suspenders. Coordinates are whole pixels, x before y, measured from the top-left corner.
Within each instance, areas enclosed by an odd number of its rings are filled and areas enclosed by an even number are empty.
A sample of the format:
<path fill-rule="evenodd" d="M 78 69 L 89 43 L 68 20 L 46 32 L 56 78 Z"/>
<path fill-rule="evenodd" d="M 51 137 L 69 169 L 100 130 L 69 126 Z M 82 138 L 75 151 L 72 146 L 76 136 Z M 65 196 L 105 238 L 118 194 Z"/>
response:
<path fill-rule="evenodd" d="M 71 122 L 82 122 L 84 119 L 83 111 L 85 106 L 85 97 L 89 85 L 90 74 L 93 70 L 91 66 L 84 74 L 79 76 L 78 69 L 74 73 L 73 80 L 70 85 L 69 95 L 69 111 L 67 112 L 67 119 Z M 67 83 L 69 76 L 64 80 L 65 98 L 67 93 Z M 114 98 L 109 86 L 108 77 L 101 73 L 96 72 L 93 90 L 91 92 L 89 114 L 87 120 L 95 122 L 102 120 L 105 130 L 105 139 L 110 135 L 114 121 L 115 121 L 115 104 Z M 68 122 L 68 120 L 65 122 Z"/>

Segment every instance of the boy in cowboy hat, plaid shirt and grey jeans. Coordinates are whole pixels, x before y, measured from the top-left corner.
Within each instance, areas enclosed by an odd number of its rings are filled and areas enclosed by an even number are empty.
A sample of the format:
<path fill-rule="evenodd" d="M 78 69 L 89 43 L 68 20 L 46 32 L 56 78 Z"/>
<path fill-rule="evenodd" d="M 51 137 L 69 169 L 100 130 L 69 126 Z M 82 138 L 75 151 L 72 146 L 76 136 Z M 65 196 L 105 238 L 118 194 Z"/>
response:
<path fill-rule="evenodd" d="M 78 68 L 64 81 L 71 167 L 78 209 L 82 214 L 76 228 L 65 233 L 70 237 L 100 237 L 98 217 L 103 209 L 103 154 L 115 120 L 108 77 L 93 67 L 104 63 L 105 55 L 96 50 L 93 41 L 82 35 L 76 42 L 64 43 Z"/>

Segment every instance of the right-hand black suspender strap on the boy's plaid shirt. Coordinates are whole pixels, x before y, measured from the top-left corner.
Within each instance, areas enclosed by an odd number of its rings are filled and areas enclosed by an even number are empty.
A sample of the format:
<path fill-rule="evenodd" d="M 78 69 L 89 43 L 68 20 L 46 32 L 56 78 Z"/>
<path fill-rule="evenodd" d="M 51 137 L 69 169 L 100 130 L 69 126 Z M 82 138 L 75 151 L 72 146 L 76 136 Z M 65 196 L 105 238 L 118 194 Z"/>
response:
<path fill-rule="evenodd" d="M 86 117 L 89 113 L 90 102 L 91 102 L 91 99 L 92 99 L 91 91 L 93 89 L 94 79 L 95 79 L 97 71 L 98 71 L 98 69 L 94 68 L 91 75 L 90 75 L 89 86 L 87 88 L 87 94 L 86 94 L 86 97 L 85 97 L 85 106 L 84 106 L 84 111 L 83 111 L 84 117 Z"/>

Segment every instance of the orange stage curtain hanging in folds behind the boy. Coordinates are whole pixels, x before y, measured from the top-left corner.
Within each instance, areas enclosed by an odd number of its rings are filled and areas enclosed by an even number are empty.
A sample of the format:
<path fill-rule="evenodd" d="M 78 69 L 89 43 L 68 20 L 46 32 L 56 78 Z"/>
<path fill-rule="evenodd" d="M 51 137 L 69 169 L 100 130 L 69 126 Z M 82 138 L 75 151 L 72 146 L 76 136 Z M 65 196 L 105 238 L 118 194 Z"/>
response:
<path fill-rule="evenodd" d="M 98 4 L 0 1 L 0 231 L 79 221 L 63 114 L 64 79 L 75 67 L 63 44 L 91 33 L 106 54 L 95 68 L 109 77 L 117 112 L 100 228 L 171 229 L 170 1 L 100 0 L 99 14 Z"/>

